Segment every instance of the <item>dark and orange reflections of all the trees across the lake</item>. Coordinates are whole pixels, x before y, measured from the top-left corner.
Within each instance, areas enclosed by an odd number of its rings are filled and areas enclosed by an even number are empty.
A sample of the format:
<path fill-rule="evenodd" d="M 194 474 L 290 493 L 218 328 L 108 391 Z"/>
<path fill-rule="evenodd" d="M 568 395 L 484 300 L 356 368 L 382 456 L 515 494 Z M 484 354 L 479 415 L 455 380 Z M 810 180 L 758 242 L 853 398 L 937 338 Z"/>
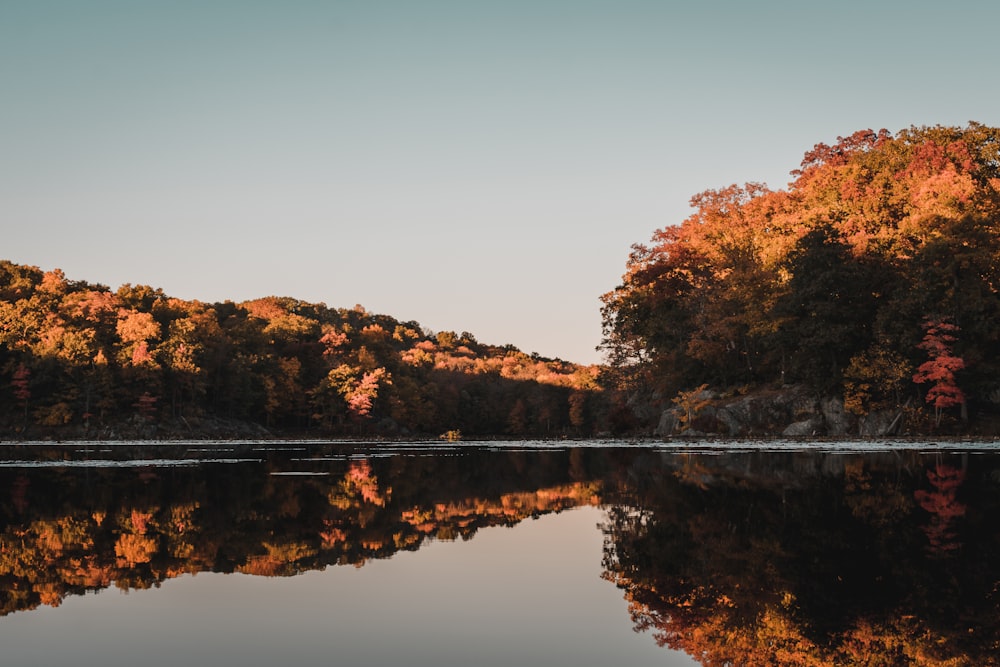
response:
<path fill-rule="evenodd" d="M 47 446 L 7 459 L 5 615 L 198 572 L 367 569 L 592 506 L 595 573 L 638 630 L 702 664 L 991 665 L 1000 649 L 1000 457 L 982 449 Z"/>

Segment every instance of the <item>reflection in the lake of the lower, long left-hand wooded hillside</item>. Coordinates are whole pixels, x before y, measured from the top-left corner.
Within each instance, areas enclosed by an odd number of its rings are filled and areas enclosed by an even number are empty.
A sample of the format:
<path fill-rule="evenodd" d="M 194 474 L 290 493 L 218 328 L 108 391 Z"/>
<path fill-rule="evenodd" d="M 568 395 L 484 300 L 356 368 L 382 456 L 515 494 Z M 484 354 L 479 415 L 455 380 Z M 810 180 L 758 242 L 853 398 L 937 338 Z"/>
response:
<path fill-rule="evenodd" d="M 599 475 L 574 451 L 385 456 L 341 446 L 176 465 L 166 449 L 115 453 L 149 465 L 61 467 L 79 453 L 50 446 L 33 452 L 46 467 L 0 467 L 0 614 L 185 573 L 360 567 L 429 539 L 471 539 L 599 501 Z"/>

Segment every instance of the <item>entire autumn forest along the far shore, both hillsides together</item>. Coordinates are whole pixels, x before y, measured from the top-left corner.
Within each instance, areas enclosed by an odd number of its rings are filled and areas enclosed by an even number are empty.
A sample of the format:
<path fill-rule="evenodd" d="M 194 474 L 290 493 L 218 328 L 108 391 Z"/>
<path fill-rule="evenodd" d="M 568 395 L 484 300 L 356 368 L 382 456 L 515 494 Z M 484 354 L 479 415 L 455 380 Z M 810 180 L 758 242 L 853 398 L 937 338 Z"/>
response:
<path fill-rule="evenodd" d="M 1000 432 L 1000 129 L 860 130 L 791 175 L 695 195 L 632 247 L 604 365 L 0 261 L 0 437 L 648 434 L 671 406 L 690 427 L 706 390 L 791 388 L 911 434 Z"/>

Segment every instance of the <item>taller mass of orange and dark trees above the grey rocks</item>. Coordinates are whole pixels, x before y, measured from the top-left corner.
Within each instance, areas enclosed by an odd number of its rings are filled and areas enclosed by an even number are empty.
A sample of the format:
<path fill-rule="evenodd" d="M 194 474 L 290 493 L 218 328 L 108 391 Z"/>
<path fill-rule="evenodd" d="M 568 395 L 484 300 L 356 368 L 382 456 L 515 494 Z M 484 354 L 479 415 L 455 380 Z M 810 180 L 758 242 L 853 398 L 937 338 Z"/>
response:
<path fill-rule="evenodd" d="M 620 386 L 805 386 L 960 429 L 1000 403 L 1000 129 L 861 130 L 787 189 L 732 185 L 633 246 L 602 297 Z M 681 394 L 681 392 L 688 392 Z"/>

